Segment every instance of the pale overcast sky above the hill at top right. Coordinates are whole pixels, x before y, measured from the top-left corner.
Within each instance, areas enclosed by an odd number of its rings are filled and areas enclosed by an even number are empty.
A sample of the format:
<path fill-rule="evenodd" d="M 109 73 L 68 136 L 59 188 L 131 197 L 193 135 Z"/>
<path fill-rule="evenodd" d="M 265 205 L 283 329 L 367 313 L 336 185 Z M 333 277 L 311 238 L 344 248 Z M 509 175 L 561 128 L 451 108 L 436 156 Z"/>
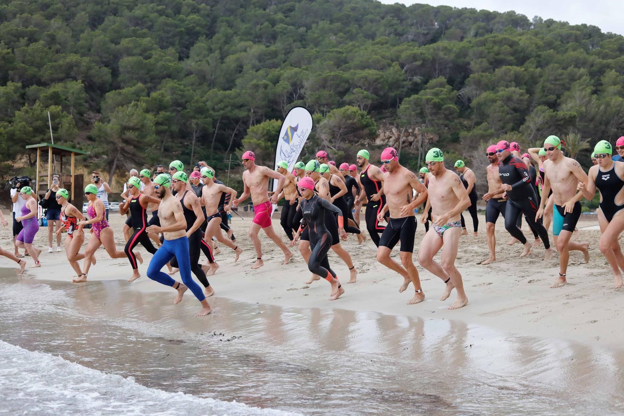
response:
<path fill-rule="evenodd" d="M 414 3 L 431 4 L 431 6 L 468 7 L 490 11 L 509 11 L 524 14 L 533 19 L 540 16 L 544 20 L 555 19 L 567 21 L 570 24 L 593 24 L 603 32 L 613 32 L 624 35 L 624 1 L 623 0 L 523 0 L 520 2 L 509 0 L 381 0 L 386 4 L 403 3 L 409 6 Z"/>

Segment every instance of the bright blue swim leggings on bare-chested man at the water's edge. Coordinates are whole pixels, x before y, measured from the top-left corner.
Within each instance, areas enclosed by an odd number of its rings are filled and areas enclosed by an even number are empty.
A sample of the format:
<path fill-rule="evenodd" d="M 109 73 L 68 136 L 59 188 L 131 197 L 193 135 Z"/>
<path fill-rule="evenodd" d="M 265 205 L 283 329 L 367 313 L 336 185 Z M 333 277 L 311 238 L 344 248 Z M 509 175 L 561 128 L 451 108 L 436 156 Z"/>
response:
<path fill-rule="evenodd" d="M 193 295 L 202 302 L 206 297 L 202 292 L 202 288 L 199 287 L 191 277 L 191 262 L 190 254 L 188 254 L 188 238 L 186 236 L 175 240 L 163 240 L 160 249 L 156 251 L 156 254 L 154 254 L 154 257 L 152 257 L 150 261 L 149 267 L 147 267 L 147 277 L 163 285 L 173 286 L 175 280 L 173 280 L 170 275 L 161 272 L 160 269 L 173 259 L 174 256 L 178 260 L 182 283 L 187 285 L 188 289 L 193 292 Z"/>

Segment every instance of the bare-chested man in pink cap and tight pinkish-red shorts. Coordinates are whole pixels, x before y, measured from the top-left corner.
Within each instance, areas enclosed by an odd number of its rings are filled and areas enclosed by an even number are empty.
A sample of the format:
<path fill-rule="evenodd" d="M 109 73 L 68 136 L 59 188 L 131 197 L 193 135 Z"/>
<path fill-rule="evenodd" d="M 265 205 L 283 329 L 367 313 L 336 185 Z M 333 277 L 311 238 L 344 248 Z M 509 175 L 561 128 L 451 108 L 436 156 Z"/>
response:
<path fill-rule="evenodd" d="M 253 223 L 249 227 L 249 237 L 253 242 L 253 248 L 256 250 L 256 262 L 251 269 L 260 269 L 264 265 L 262 261 L 262 245 L 260 244 L 260 238 L 258 232 L 260 229 L 265 231 L 267 237 L 280 247 L 284 252 L 284 262 L 282 264 L 288 264 L 288 260 L 293 257 L 293 253 L 288 250 L 286 244 L 275 234 L 273 225 L 271 225 L 271 212 L 273 212 L 273 206 L 271 204 L 277 204 L 277 195 L 271 197 L 269 201 L 268 196 L 268 184 L 269 179 L 273 178 L 278 181 L 277 189 L 275 192 L 279 194 L 281 188 L 284 186 L 285 178 L 278 172 L 269 169 L 266 166 L 256 166 L 256 156 L 251 151 L 246 151 L 243 154 L 243 166 L 247 169 L 243 172 L 243 193 L 239 198 L 232 201 L 232 206 L 236 207 L 242 201 L 245 201 L 251 194 L 251 202 L 253 202 Z"/>

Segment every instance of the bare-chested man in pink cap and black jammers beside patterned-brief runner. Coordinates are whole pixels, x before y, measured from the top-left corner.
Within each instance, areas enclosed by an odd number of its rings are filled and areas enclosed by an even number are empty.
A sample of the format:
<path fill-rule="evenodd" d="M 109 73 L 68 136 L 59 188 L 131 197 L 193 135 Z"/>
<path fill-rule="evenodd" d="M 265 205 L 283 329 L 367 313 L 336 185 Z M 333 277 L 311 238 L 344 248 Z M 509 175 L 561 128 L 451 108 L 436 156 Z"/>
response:
<path fill-rule="evenodd" d="M 427 200 L 427 189 L 413 172 L 399 164 L 397 151 L 392 147 L 386 147 L 381 153 L 381 166 L 386 168 L 386 173 L 382 177 L 386 205 L 379 213 L 378 220 L 383 220 L 388 210 L 390 218 L 379 239 L 377 261 L 403 276 L 403 284 L 399 292 L 406 290 L 409 282 L 414 284 L 416 293 L 412 300 L 407 302 L 408 305 L 413 305 L 425 299 L 412 255 L 416 234 L 414 208 Z M 412 198 L 414 191 L 418 192 L 416 199 Z M 403 267 L 390 258 L 390 253 L 399 240 L 401 240 L 400 256 Z"/>

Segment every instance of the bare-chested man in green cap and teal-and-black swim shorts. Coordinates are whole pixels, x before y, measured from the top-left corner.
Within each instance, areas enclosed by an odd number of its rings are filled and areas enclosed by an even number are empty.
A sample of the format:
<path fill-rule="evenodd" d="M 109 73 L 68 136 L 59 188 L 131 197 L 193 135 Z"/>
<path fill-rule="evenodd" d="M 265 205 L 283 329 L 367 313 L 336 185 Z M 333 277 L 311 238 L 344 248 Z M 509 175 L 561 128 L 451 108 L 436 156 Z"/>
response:
<path fill-rule="evenodd" d="M 553 201 L 555 202 L 553 209 L 560 214 L 557 220 L 552 224 L 552 234 L 555 237 L 555 247 L 559 252 L 559 277 L 552 284 L 552 288 L 562 287 L 567 283 L 566 272 L 568 269 L 568 260 L 570 259 L 570 250 L 580 250 L 585 255 L 585 263 L 589 260 L 587 249 L 589 244 L 570 241 L 572 233 L 577 226 L 578 219 L 581 216 L 580 201 L 583 198 L 582 192 L 576 192 L 575 184 L 578 182 L 587 183 L 587 174 L 583 171 L 580 164 L 570 157 L 563 156 L 561 151 L 561 141 L 557 136 L 548 136 L 544 141 L 544 150 L 546 151 L 547 160 L 544 161 L 544 188 L 543 195 L 548 195 L 552 188 Z M 535 215 L 535 219 L 539 219 L 544 215 L 544 206 L 546 198 L 540 201 L 540 208 Z"/>

